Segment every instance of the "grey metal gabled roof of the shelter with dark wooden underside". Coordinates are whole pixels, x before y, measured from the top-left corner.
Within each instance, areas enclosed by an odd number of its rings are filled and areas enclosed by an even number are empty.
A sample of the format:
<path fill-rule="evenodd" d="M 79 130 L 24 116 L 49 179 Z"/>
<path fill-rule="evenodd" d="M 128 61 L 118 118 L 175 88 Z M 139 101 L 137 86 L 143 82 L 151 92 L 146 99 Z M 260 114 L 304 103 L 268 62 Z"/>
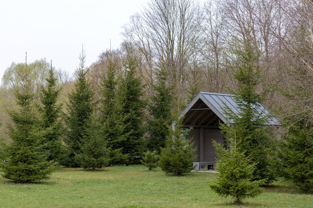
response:
<path fill-rule="evenodd" d="M 219 94 L 209 92 L 199 92 L 188 106 L 181 112 L 180 116 L 184 116 L 184 126 L 217 126 L 219 122 L 231 123 L 226 119 L 223 106 L 226 105 L 234 113 L 238 113 L 238 105 L 234 100 L 234 95 Z M 262 116 L 272 115 L 270 111 L 262 104 L 255 106 Z M 278 120 L 273 116 L 265 125 L 280 125 Z"/>

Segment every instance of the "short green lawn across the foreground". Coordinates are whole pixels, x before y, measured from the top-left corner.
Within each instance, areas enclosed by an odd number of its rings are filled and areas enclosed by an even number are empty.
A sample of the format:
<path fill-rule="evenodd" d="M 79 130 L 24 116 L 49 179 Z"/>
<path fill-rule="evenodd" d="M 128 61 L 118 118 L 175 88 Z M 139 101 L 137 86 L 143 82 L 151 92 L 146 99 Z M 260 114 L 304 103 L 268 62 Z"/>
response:
<path fill-rule="evenodd" d="M 214 173 L 168 176 L 144 166 L 97 171 L 59 168 L 41 184 L 14 184 L 0 177 L 1 208 L 313 208 L 313 196 L 277 181 L 240 206 L 209 189 Z"/>

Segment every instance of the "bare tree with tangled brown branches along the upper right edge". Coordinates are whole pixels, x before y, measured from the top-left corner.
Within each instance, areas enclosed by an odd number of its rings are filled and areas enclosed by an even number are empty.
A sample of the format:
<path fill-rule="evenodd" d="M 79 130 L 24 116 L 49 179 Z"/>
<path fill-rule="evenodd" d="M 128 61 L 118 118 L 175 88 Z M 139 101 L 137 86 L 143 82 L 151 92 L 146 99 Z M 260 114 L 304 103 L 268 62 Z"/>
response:
<path fill-rule="evenodd" d="M 286 35 L 277 35 L 286 50 L 284 78 L 280 82 L 286 95 L 283 115 L 292 120 L 301 114 L 298 119 L 310 120 L 313 117 L 313 2 L 280 0 L 277 5 L 288 22 Z"/>

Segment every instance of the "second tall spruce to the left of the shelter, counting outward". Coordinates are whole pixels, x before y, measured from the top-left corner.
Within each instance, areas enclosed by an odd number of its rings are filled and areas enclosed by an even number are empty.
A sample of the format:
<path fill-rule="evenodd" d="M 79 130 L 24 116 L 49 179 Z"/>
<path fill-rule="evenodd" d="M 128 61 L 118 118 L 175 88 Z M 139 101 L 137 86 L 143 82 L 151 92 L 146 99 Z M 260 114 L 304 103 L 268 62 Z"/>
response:
<path fill-rule="evenodd" d="M 143 142 L 143 121 L 145 101 L 142 100 L 143 88 L 141 79 L 136 77 L 138 67 L 137 60 L 132 54 L 129 54 L 124 64 L 125 77 L 121 79 L 118 88 L 117 102 L 121 104 L 121 118 L 123 123 L 120 148 L 124 155 L 128 155 L 128 164 L 140 164 L 142 152 L 144 150 Z"/>

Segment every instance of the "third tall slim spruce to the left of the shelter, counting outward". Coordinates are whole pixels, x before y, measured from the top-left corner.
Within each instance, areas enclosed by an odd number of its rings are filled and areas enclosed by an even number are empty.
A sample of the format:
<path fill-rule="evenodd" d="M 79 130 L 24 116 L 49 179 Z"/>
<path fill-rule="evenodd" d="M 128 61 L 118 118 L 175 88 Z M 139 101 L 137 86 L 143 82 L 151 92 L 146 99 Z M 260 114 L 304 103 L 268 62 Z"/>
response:
<path fill-rule="evenodd" d="M 122 136 L 123 123 L 121 117 L 121 105 L 116 99 L 116 64 L 113 62 L 113 54 L 108 54 L 107 73 L 103 74 L 100 82 L 100 115 L 102 132 L 110 148 L 110 164 L 122 165 L 128 162 L 128 155 L 122 154 L 122 143 L 125 137 Z"/>

